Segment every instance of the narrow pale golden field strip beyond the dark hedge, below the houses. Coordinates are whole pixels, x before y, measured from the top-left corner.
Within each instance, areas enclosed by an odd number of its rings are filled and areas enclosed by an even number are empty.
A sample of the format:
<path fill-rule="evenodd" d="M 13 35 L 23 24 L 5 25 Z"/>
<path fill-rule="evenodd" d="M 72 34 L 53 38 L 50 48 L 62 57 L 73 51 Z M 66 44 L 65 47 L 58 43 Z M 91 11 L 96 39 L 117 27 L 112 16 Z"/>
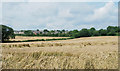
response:
<path fill-rule="evenodd" d="M 16 36 L 15 39 L 10 39 L 10 41 L 24 41 L 24 40 L 37 40 L 37 39 L 59 39 L 68 37 L 31 37 L 31 36 Z"/>

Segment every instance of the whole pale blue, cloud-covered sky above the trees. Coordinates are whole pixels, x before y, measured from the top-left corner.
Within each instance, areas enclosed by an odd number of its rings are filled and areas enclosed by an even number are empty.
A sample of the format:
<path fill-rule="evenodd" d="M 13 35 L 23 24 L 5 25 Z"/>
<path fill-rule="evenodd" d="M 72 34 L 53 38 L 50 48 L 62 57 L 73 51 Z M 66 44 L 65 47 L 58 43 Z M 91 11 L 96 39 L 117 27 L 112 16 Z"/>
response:
<path fill-rule="evenodd" d="M 96 29 L 118 25 L 115 2 L 4 2 L 3 24 L 22 29 Z"/>

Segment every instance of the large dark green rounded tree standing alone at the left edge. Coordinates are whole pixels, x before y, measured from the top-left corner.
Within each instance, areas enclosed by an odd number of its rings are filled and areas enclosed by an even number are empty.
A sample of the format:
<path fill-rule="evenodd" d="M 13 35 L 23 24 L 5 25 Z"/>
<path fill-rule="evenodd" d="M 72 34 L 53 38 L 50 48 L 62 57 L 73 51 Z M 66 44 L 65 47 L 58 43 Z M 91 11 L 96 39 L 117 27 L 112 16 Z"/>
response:
<path fill-rule="evenodd" d="M 12 28 L 8 27 L 8 26 L 5 26 L 5 25 L 0 25 L 0 30 L 2 30 L 2 34 L 0 37 L 1 38 L 1 41 L 4 42 L 4 41 L 8 41 L 10 38 L 15 38 L 15 35 L 14 35 L 14 31 Z"/>

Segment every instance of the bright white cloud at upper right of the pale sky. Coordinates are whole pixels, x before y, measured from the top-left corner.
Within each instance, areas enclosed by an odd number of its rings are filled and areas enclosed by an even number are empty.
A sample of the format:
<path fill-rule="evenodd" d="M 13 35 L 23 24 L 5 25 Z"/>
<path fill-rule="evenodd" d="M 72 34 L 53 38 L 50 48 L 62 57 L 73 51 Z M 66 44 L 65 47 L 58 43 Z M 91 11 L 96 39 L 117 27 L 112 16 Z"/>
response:
<path fill-rule="evenodd" d="M 95 9 L 92 15 L 88 15 L 86 21 L 103 21 L 111 18 L 115 20 L 117 18 L 117 8 L 114 6 L 113 2 L 106 3 L 105 6 Z"/>

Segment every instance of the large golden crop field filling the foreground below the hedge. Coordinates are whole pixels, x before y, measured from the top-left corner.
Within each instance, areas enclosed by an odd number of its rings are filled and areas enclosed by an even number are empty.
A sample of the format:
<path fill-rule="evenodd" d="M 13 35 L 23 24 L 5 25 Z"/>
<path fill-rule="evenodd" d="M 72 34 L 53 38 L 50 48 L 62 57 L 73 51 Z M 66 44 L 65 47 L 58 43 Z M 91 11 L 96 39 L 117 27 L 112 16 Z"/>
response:
<path fill-rule="evenodd" d="M 22 38 L 23 37 L 21 37 L 21 39 Z M 29 38 L 26 37 L 26 39 Z M 36 37 L 31 37 L 30 39 L 33 38 Z M 117 36 L 85 37 L 56 41 L 3 43 L 2 46 L 3 68 L 118 68 Z"/>

